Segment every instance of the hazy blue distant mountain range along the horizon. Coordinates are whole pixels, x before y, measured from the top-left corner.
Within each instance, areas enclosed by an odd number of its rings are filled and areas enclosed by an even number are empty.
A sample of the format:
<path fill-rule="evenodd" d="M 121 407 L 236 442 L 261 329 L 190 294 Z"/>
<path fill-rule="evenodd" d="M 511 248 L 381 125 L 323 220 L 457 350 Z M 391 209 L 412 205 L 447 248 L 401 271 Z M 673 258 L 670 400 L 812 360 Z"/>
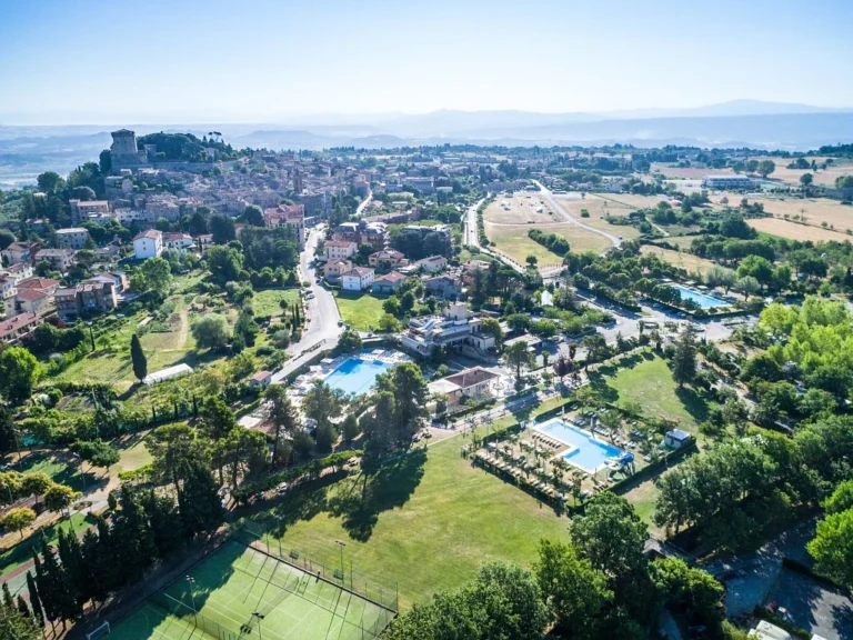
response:
<path fill-rule="evenodd" d="M 42 117 L 57 120 L 57 113 Z M 30 181 L 44 169 L 68 172 L 97 160 L 110 144 L 109 132 L 126 127 L 139 134 L 221 131 L 238 148 L 365 149 L 418 144 L 612 144 L 635 147 L 751 147 L 805 151 L 822 144 L 853 141 L 853 108 L 734 100 L 692 109 L 638 109 L 601 113 L 531 111 L 456 111 L 431 113 L 269 117 L 267 123 L 133 124 L 143 116 L 113 124 L 1 124 L 33 121 L 38 114 L 0 113 L 0 183 Z M 224 118 L 223 118 L 224 120 Z M 104 122 L 109 121 L 104 118 Z M 34 172 L 34 173 L 33 173 Z"/>

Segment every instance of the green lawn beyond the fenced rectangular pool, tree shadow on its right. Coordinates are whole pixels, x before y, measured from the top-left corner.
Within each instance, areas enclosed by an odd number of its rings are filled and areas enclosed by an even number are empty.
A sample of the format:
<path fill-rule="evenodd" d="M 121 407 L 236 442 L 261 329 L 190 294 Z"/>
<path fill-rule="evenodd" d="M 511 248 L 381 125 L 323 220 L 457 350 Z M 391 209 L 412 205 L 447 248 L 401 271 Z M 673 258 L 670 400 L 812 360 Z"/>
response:
<path fill-rule="evenodd" d="M 691 433 L 705 420 L 710 404 L 691 388 L 679 390 L 672 372 L 662 358 L 635 357 L 632 367 L 620 369 L 612 378 L 605 378 L 608 399 L 640 404 L 644 416 L 666 418 L 680 422 Z"/>

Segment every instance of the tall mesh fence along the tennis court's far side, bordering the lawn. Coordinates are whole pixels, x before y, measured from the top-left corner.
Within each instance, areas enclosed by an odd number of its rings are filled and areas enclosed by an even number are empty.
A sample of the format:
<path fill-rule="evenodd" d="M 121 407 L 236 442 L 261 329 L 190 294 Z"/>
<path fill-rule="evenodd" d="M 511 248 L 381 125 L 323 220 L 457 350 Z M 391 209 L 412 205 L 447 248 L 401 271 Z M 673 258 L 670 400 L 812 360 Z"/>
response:
<path fill-rule="evenodd" d="M 318 574 L 322 580 L 370 600 L 383 609 L 398 613 L 400 594 L 397 582 L 389 583 L 353 569 L 352 562 L 329 564 L 302 553 L 298 549 L 281 544 L 281 540 L 269 534 L 269 527 L 261 522 L 244 520 L 234 532 L 234 539 L 297 569 Z"/>

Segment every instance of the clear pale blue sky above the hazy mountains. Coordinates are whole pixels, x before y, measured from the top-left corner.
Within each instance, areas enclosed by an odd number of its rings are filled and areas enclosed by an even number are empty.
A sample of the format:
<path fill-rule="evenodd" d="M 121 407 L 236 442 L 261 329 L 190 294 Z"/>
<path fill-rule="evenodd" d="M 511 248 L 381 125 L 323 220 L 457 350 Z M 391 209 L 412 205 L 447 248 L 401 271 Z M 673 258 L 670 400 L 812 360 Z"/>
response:
<path fill-rule="evenodd" d="M 853 1 L 0 0 L 0 123 L 853 107 Z"/>

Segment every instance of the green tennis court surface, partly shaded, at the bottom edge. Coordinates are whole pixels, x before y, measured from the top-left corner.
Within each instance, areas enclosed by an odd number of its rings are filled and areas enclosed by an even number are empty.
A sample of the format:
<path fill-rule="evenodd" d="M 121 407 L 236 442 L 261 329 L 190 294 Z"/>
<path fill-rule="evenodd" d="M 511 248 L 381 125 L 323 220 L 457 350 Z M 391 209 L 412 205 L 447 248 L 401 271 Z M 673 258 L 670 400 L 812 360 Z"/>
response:
<path fill-rule="evenodd" d="M 394 617 L 267 553 L 227 542 L 112 627 L 109 640 L 372 640 Z"/>

